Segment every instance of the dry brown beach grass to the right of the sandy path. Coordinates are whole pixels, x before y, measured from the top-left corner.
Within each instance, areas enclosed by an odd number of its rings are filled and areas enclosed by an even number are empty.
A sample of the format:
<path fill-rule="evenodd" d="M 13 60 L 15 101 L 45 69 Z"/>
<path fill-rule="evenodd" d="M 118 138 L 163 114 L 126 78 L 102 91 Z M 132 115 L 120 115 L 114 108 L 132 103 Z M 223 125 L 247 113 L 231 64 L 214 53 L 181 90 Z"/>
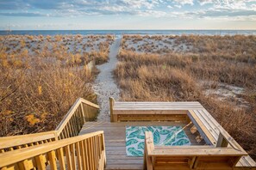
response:
<path fill-rule="evenodd" d="M 163 37 L 158 36 L 158 39 Z M 122 100 L 197 100 L 255 159 L 256 36 L 171 38 L 173 45 L 184 44 L 190 49 L 139 52 L 137 47 L 134 50 L 126 46 L 126 40 L 130 39 L 136 46 L 136 42 L 144 38 L 124 37 L 115 70 Z M 209 89 L 219 91 L 220 84 L 239 87 L 242 93 L 224 99 L 206 93 Z"/>

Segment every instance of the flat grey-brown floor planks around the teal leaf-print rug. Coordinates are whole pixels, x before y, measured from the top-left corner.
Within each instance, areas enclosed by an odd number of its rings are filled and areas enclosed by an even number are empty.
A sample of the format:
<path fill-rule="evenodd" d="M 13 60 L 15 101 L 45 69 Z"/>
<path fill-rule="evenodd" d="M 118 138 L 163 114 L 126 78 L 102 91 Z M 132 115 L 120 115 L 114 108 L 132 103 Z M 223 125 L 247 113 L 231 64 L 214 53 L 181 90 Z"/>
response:
<path fill-rule="evenodd" d="M 107 165 L 109 163 L 113 163 L 113 165 L 116 163 L 126 165 L 130 162 L 130 165 L 135 162 L 140 162 L 141 166 L 143 164 L 143 157 L 131 157 L 126 155 L 125 150 L 125 129 L 126 126 L 148 126 L 148 125 L 161 125 L 161 126 L 168 126 L 168 125 L 180 125 L 182 127 L 187 126 L 188 124 L 184 123 L 177 123 L 177 122 L 120 122 L 120 123 L 101 123 L 101 124 L 89 124 L 90 128 L 83 129 L 80 134 L 91 132 L 91 131 L 97 131 L 97 130 L 103 130 L 104 136 L 105 136 L 105 145 L 106 145 L 106 155 L 107 155 Z M 192 125 L 192 124 L 191 124 Z M 86 124 L 84 124 L 84 127 L 86 127 Z M 191 143 L 197 144 L 195 139 L 196 135 L 193 135 L 190 133 L 190 126 L 184 129 L 188 137 L 190 138 Z M 122 169 L 121 166 L 119 168 Z"/>

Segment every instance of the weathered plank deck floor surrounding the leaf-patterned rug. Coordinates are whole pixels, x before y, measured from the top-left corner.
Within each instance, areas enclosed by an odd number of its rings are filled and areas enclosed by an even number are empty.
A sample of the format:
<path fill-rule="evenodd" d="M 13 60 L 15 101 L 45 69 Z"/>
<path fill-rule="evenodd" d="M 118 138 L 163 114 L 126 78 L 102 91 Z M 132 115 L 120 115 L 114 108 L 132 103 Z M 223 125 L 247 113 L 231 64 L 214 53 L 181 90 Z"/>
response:
<path fill-rule="evenodd" d="M 186 135 L 190 138 L 192 145 L 203 145 L 204 141 L 197 143 L 196 137 L 199 133 L 191 133 L 190 128 L 193 124 L 175 123 L 175 122 L 88 122 L 85 123 L 79 135 L 90 133 L 93 131 L 104 131 L 105 147 L 107 157 L 106 169 L 142 169 L 143 157 L 128 157 L 125 151 L 125 127 L 161 125 L 172 126 L 179 125 L 184 127 Z"/>

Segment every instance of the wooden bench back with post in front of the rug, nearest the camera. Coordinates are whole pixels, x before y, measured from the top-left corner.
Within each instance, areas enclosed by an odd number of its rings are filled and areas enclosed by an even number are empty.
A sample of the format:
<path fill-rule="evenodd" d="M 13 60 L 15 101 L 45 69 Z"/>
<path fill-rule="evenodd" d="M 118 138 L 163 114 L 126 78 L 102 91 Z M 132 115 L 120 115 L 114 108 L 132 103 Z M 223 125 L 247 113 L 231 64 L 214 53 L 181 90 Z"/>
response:
<path fill-rule="evenodd" d="M 234 169 L 244 150 L 206 146 L 154 146 L 145 132 L 144 169 Z"/>

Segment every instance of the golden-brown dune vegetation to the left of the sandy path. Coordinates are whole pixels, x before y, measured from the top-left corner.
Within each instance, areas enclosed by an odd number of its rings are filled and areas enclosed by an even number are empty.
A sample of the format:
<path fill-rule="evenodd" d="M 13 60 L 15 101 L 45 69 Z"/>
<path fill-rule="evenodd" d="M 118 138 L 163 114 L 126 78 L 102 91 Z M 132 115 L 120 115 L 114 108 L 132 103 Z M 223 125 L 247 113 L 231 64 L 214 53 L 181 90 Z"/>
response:
<path fill-rule="evenodd" d="M 111 35 L 0 37 L 0 137 L 54 130 L 78 97 L 97 102 L 95 68 Z"/>

